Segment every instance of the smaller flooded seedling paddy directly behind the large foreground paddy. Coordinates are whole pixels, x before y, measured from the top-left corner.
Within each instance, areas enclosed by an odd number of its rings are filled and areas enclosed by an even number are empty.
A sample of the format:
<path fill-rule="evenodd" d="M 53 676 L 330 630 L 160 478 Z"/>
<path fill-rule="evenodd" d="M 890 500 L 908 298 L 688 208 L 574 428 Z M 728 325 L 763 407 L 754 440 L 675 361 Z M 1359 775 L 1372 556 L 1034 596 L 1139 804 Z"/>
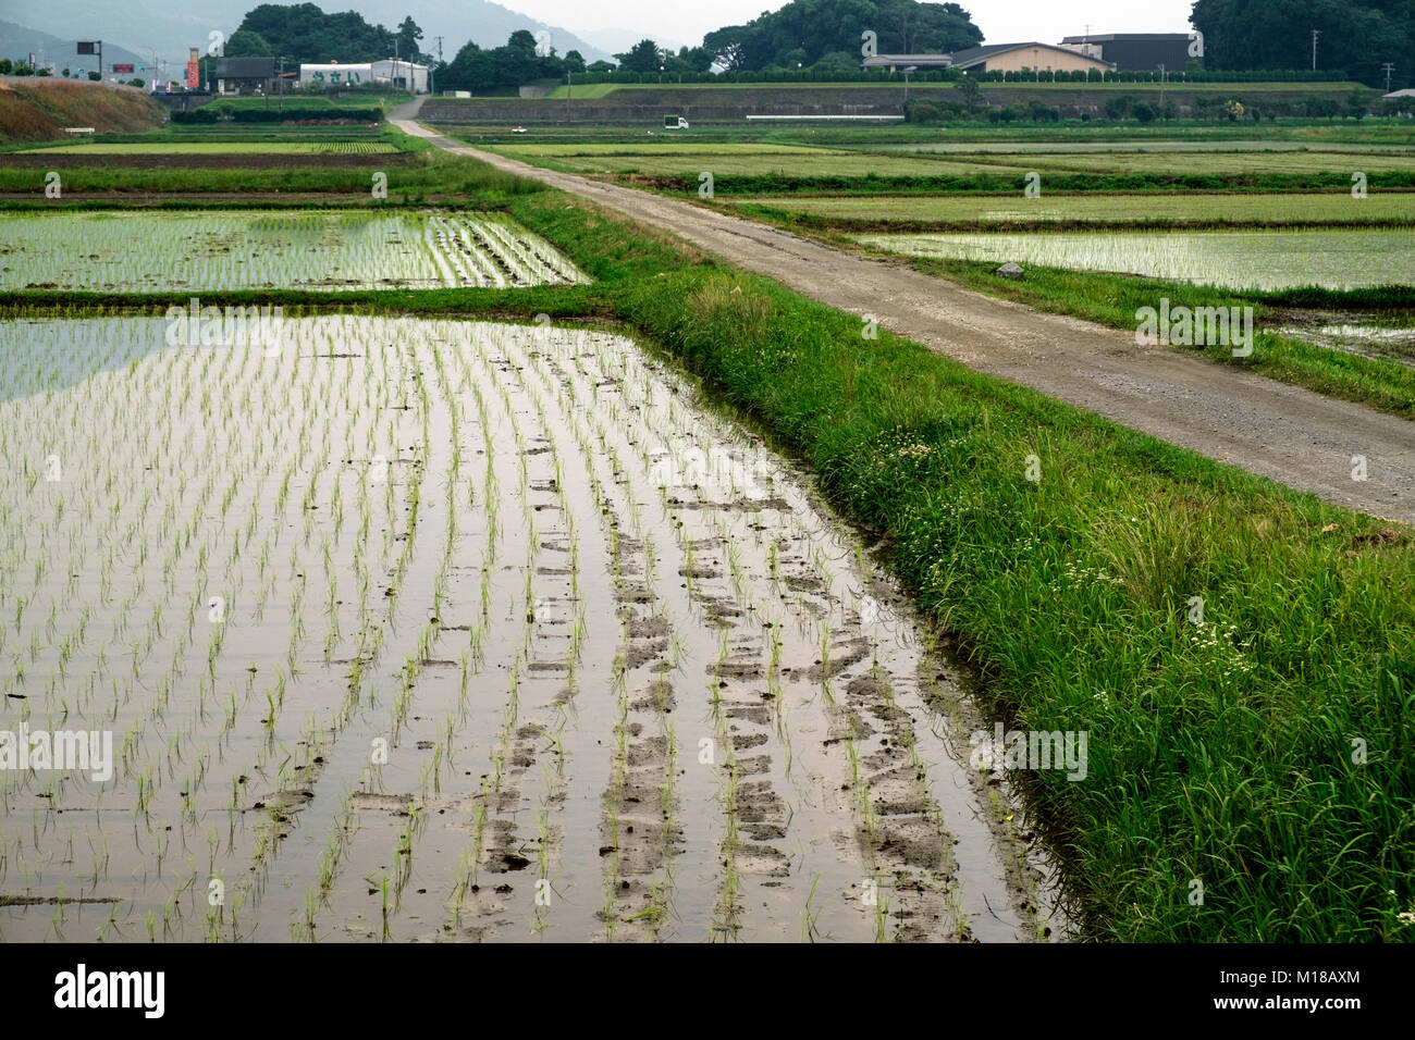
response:
<path fill-rule="evenodd" d="M 444 289 L 584 282 L 497 214 L 0 216 L 0 289 Z"/>

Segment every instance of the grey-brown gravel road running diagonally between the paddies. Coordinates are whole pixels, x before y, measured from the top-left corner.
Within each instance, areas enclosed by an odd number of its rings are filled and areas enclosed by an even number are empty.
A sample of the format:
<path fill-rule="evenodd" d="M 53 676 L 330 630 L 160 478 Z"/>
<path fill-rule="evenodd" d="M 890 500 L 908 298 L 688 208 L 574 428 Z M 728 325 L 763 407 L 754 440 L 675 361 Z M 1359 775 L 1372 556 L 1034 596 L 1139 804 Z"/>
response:
<path fill-rule="evenodd" d="M 393 123 L 457 154 L 593 200 L 982 372 L 1375 516 L 1415 524 L 1415 424 L 1085 321 L 965 291 L 901 265 L 633 188 L 555 173 Z M 1353 457 L 1367 480 L 1353 480 Z"/>

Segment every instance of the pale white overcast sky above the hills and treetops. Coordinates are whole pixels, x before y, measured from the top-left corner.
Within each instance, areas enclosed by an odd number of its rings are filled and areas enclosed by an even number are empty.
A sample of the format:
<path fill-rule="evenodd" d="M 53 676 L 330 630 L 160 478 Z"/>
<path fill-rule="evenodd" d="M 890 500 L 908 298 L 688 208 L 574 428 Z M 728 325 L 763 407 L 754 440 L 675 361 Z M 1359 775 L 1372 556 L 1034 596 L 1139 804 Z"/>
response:
<path fill-rule="evenodd" d="M 784 0 L 501 0 L 569 30 L 633 28 L 698 44 L 703 33 L 777 10 Z M 1060 42 L 1085 33 L 1187 33 L 1191 0 L 961 0 L 988 42 Z"/>

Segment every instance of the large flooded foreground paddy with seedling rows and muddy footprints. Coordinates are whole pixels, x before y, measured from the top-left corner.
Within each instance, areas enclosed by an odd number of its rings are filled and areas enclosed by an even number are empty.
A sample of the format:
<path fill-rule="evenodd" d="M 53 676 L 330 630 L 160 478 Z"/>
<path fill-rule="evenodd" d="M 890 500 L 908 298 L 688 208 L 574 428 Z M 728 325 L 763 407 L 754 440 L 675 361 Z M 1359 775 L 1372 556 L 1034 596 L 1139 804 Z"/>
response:
<path fill-rule="evenodd" d="M 0 937 L 1060 931 L 958 669 L 669 365 L 284 330 L 3 330 L 0 732 L 120 761 L 0 771 Z"/>

